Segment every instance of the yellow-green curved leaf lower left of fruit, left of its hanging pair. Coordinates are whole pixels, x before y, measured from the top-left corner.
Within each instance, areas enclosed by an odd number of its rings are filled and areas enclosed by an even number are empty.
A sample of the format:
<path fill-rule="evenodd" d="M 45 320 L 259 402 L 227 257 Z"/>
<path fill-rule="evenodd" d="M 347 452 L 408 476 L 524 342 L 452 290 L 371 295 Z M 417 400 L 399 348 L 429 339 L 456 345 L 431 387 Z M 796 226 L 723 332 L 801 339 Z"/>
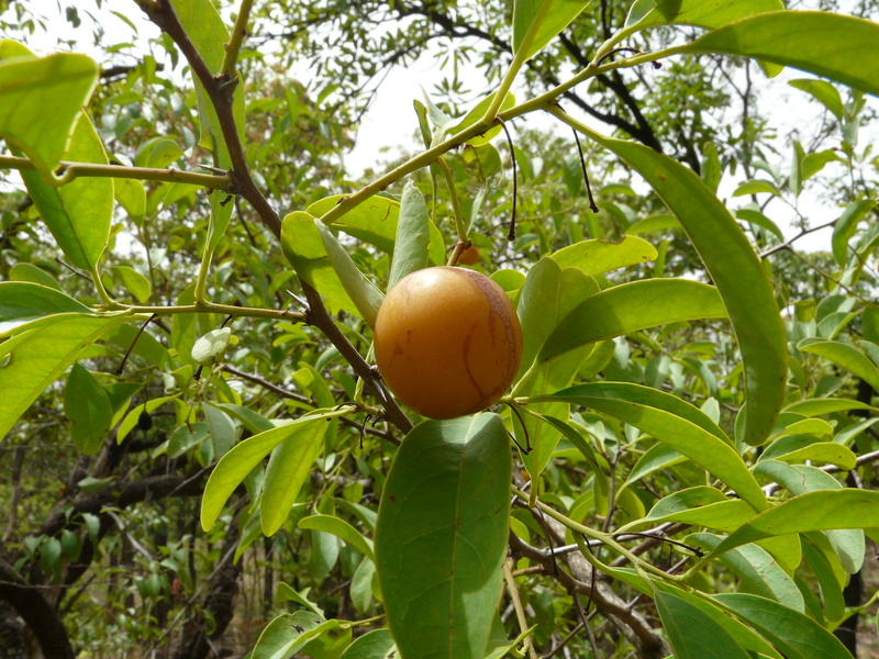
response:
<path fill-rule="evenodd" d="M 213 526 L 235 488 L 275 447 L 288 439 L 293 440 L 292 446 L 307 445 L 315 433 L 320 434 L 321 431 L 319 428 L 323 428 L 325 425 L 326 422 L 321 417 L 302 416 L 291 423 L 254 435 L 224 455 L 214 467 L 208 479 L 208 484 L 204 487 L 204 495 L 201 500 L 202 528 L 209 530 Z M 320 442 L 316 443 L 320 444 Z M 311 469 L 311 462 L 304 467 L 299 467 L 300 470 L 304 470 L 308 473 L 308 470 Z M 298 476 L 297 473 L 291 474 L 291 480 Z M 301 482 L 302 478 L 300 477 L 300 485 Z M 285 484 L 281 483 L 281 487 L 283 488 Z M 299 487 L 290 489 L 296 489 L 297 493 L 299 492 Z M 293 495 L 293 499 L 296 499 L 296 495 Z M 290 502 L 291 504 L 292 502 Z M 265 510 L 265 507 L 264 501 L 263 509 Z M 289 512 L 290 507 L 288 505 L 287 510 L 283 511 L 285 518 Z"/>

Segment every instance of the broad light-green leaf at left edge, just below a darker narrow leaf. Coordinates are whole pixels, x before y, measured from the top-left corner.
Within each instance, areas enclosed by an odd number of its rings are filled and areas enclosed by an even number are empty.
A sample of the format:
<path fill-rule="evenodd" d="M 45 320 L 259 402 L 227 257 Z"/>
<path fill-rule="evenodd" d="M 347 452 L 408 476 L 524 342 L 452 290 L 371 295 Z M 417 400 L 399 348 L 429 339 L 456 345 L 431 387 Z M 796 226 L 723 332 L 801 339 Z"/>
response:
<path fill-rule="evenodd" d="M 0 343 L 0 437 L 79 351 L 124 316 L 59 314 Z"/>

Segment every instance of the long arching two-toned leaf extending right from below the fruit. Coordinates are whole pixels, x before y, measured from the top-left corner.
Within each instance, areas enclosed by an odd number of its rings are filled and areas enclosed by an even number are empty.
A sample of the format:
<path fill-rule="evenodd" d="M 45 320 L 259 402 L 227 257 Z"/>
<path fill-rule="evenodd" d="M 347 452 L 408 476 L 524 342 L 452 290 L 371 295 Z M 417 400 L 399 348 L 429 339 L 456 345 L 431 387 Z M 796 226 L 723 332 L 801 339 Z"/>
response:
<path fill-rule="evenodd" d="M 592 382 L 532 400 L 583 405 L 631 424 L 713 473 L 736 490 L 754 510 L 767 507 L 763 490 L 739 455 L 722 438 L 725 437 L 723 431 L 703 412 L 680 399 L 638 384 Z"/>

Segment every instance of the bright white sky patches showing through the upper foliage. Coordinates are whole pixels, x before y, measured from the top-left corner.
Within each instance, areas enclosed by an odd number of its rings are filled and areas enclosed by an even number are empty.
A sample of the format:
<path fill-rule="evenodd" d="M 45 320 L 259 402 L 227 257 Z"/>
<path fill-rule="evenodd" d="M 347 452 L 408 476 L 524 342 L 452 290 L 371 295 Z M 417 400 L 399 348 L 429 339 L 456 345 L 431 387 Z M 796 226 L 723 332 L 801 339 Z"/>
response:
<path fill-rule="evenodd" d="M 56 0 L 57 1 L 57 0 Z M 90 2 L 84 3 L 86 8 L 94 11 L 94 5 Z M 137 41 L 138 36 L 133 35 L 131 27 L 119 16 L 112 13 L 112 10 L 124 12 L 124 15 L 131 20 L 138 29 L 140 40 L 144 40 L 149 35 L 156 34 L 156 29 L 152 25 L 145 16 L 136 8 L 134 2 L 104 2 L 100 11 L 96 11 L 98 20 L 104 26 L 109 34 L 112 34 L 114 40 L 122 41 L 131 38 Z M 60 13 L 60 7 L 59 7 Z M 57 43 L 65 40 L 79 40 L 77 49 L 85 52 L 99 62 L 102 57 L 101 48 L 90 43 L 91 30 L 88 27 L 89 19 L 85 10 L 80 10 L 80 18 L 84 25 L 75 30 L 63 15 L 58 16 L 57 21 L 53 21 L 49 34 L 37 34 L 31 41 L 32 47 L 42 52 L 51 52 L 55 49 Z M 291 71 L 293 76 L 299 77 L 303 82 L 308 81 L 308 69 L 303 67 L 301 70 Z M 761 76 L 760 74 L 757 74 Z M 479 89 L 482 81 L 479 79 L 479 71 L 474 69 L 472 79 L 466 80 L 470 89 Z M 408 68 L 393 69 L 382 83 L 381 93 L 377 94 L 369 111 L 367 112 L 363 125 L 357 132 L 357 141 L 354 149 L 346 155 L 345 165 L 349 174 L 354 177 L 363 174 L 364 169 L 368 167 L 376 167 L 382 160 L 388 159 L 396 155 L 398 147 L 412 149 L 416 146 L 414 141 L 418 123 L 414 111 L 412 110 L 412 101 L 421 99 L 423 87 L 431 90 L 433 86 L 442 79 L 442 72 L 438 70 L 435 62 L 431 56 L 423 56 L 416 63 Z M 770 120 L 774 125 L 778 126 L 778 134 L 780 136 L 795 126 L 802 126 L 804 139 L 809 136 L 808 130 L 811 125 L 816 125 L 814 122 L 820 122 L 822 113 L 817 103 L 808 100 L 806 94 L 798 91 L 787 85 L 788 80 L 801 77 L 809 77 L 801 71 L 788 69 L 775 79 L 763 79 L 758 82 L 760 94 L 764 99 L 761 108 L 768 111 Z M 845 98 L 845 90 L 841 88 Z M 522 94 L 519 94 L 522 98 Z M 771 103 L 767 102 L 771 99 Z M 879 109 L 877 99 L 869 99 L 874 109 Z M 572 114 L 577 115 L 576 109 L 569 108 Z M 602 132 L 609 132 L 610 127 L 597 122 L 596 120 L 581 114 L 578 116 L 585 123 L 596 127 Z M 530 127 L 538 127 L 541 130 L 554 130 L 555 122 L 547 116 L 531 114 L 516 123 L 527 123 Z M 400 141 L 400 135 L 411 135 L 405 142 Z M 861 144 L 867 141 L 877 141 L 877 130 L 874 129 L 869 133 L 861 131 Z M 786 139 L 778 139 L 776 147 L 781 156 L 777 161 L 771 163 L 774 166 L 780 166 L 787 169 L 790 160 L 791 145 Z M 382 153 L 385 149 L 390 149 L 387 154 Z M 828 166 L 824 172 L 832 172 L 833 165 Z M 842 171 L 842 169 L 839 169 Z M 721 185 L 720 196 L 728 197 L 735 189 L 741 179 L 733 180 L 732 177 L 725 176 Z M 806 187 L 799 200 L 800 211 L 805 214 L 812 225 L 824 224 L 834 220 L 842 213 L 842 209 L 833 204 L 826 203 L 824 200 L 819 199 L 813 190 L 814 186 Z M 734 200 L 731 205 L 739 206 L 747 202 L 746 198 Z M 790 237 L 797 233 L 797 230 L 790 225 L 790 219 L 794 216 L 791 209 L 782 208 L 782 204 L 774 202 L 769 206 L 768 215 L 775 220 L 781 227 L 786 237 Z M 823 230 L 810 234 L 800 241 L 797 246 L 801 250 L 811 252 L 816 249 L 830 248 L 831 230 Z"/>

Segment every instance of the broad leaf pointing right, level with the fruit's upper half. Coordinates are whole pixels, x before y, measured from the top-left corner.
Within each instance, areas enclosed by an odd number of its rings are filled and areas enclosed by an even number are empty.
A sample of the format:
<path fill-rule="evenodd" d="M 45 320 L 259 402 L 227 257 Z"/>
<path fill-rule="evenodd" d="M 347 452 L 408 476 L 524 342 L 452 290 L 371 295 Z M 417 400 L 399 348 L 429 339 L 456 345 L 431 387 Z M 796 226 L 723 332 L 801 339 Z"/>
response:
<path fill-rule="evenodd" d="M 538 359 L 647 327 L 726 317 L 714 287 L 688 279 L 644 279 L 591 295 L 574 309 L 544 342 Z"/>

